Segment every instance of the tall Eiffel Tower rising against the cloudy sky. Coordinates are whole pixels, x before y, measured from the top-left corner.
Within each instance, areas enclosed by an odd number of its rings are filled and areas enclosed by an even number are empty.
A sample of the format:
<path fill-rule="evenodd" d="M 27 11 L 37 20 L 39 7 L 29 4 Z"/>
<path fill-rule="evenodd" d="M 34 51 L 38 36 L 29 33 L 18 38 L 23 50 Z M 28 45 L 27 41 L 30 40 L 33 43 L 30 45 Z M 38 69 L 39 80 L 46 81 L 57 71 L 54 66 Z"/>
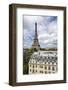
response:
<path fill-rule="evenodd" d="M 40 45 L 39 45 L 39 41 L 38 41 L 38 35 L 37 35 L 37 23 L 35 23 L 35 37 L 33 40 L 32 48 L 36 49 L 36 50 L 40 49 Z"/>

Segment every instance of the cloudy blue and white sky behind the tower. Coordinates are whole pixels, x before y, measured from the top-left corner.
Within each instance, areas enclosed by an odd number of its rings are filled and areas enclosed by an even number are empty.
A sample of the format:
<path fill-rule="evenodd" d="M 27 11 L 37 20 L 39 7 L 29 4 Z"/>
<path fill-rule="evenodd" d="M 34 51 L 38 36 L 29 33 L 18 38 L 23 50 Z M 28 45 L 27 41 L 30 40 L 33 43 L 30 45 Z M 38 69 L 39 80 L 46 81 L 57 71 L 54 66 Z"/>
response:
<path fill-rule="evenodd" d="M 24 48 L 31 48 L 37 22 L 38 40 L 41 48 L 57 48 L 57 16 L 23 16 Z"/>

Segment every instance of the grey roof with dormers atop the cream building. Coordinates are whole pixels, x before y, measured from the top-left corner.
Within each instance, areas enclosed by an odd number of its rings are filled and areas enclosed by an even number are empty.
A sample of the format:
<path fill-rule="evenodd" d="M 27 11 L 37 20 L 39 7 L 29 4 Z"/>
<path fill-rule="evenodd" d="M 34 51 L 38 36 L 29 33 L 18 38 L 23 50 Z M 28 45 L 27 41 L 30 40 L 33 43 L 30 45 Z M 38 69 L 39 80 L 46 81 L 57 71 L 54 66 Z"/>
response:
<path fill-rule="evenodd" d="M 36 61 L 45 61 L 45 62 L 56 62 L 57 60 L 57 51 L 39 51 L 34 52 L 31 56 L 31 59 Z"/>

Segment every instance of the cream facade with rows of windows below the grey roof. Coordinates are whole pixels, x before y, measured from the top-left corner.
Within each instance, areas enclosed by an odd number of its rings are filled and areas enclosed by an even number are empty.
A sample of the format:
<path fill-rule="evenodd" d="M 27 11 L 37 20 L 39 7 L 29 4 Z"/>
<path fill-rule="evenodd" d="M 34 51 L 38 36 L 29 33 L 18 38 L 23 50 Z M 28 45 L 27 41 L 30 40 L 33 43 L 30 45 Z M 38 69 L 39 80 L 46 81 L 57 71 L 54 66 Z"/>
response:
<path fill-rule="evenodd" d="M 29 62 L 29 74 L 48 74 L 48 73 L 56 73 L 57 72 L 57 63 L 54 62 L 36 62 L 36 60 L 31 60 Z"/>

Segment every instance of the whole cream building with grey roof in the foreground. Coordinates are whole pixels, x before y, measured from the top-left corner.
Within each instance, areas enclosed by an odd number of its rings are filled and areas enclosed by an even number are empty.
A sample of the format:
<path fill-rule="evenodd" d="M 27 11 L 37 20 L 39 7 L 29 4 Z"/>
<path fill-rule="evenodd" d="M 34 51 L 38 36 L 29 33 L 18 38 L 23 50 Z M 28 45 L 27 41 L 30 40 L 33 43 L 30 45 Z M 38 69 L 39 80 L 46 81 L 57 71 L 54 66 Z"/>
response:
<path fill-rule="evenodd" d="M 34 52 L 29 60 L 29 74 L 57 72 L 57 51 Z"/>

